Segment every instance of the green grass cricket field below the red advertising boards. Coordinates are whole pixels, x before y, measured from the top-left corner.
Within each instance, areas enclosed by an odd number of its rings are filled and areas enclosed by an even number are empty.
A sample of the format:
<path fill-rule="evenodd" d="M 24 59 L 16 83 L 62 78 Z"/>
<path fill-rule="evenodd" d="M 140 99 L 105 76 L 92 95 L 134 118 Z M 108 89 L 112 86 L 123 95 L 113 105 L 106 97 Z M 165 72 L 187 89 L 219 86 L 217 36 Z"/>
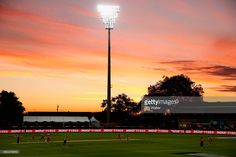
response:
<path fill-rule="evenodd" d="M 51 133 L 51 142 L 39 141 L 42 134 L 21 134 L 16 144 L 16 134 L 0 134 L 0 150 L 18 150 L 18 154 L 0 154 L 1 157 L 236 157 L 236 139 L 216 139 L 209 144 L 208 135 L 122 133 Z M 211 135 L 215 137 L 214 135 Z M 200 137 L 205 138 L 200 147 Z M 222 137 L 222 136 L 221 136 Z"/>

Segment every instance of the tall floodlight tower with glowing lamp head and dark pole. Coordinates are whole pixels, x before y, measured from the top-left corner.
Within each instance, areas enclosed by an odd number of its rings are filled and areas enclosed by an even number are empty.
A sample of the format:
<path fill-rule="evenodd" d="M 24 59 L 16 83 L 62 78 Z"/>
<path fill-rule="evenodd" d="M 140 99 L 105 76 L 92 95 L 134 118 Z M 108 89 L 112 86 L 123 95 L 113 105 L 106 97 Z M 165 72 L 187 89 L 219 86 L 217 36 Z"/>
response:
<path fill-rule="evenodd" d="M 107 123 L 110 123 L 111 113 L 111 41 L 110 32 L 114 28 L 120 6 L 117 5 L 98 5 L 98 12 L 108 31 L 108 67 L 107 67 Z"/>

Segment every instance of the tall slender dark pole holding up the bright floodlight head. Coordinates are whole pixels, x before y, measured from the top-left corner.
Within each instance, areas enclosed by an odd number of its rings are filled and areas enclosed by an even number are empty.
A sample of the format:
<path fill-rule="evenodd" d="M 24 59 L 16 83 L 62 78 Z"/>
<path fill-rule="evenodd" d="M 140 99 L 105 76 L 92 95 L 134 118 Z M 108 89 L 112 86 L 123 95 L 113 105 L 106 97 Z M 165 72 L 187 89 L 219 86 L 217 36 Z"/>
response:
<path fill-rule="evenodd" d="M 108 67 L 107 67 L 107 123 L 110 123 L 111 114 L 111 41 L 110 31 L 108 28 Z"/>

